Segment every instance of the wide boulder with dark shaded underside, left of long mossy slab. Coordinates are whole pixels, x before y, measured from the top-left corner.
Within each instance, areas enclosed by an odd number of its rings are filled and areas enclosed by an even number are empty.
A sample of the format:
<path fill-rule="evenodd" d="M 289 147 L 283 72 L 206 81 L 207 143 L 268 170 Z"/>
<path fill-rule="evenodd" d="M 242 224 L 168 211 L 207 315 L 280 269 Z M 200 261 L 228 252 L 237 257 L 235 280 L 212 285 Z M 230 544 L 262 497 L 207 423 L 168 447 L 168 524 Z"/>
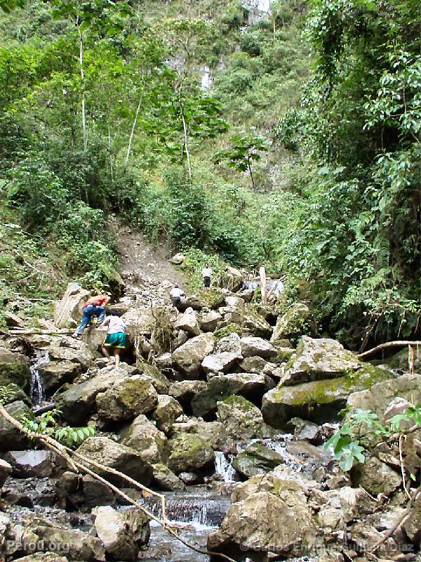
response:
<path fill-rule="evenodd" d="M 215 375 L 209 379 L 206 387 L 192 398 L 192 412 L 195 416 L 205 417 L 215 412 L 219 400 L 225 400 L 234 394 L 260 401 L 268 388 L 273 388 L 274 381 L 264 374 L 229 373 Z"/>

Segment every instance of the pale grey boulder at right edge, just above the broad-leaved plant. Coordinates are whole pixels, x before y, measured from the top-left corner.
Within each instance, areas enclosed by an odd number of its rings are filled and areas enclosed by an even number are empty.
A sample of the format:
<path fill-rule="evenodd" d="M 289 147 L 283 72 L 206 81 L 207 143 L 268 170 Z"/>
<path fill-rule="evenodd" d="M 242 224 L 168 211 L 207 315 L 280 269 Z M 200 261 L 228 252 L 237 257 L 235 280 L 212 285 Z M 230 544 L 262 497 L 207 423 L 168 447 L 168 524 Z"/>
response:
<path fill-rule="evenodd" d="M 371 410 L 383 422 L 385 411 L 394 398 L 404 398 L 413 404 L 421 403 L 420 374 L 403 374 L 397 379 L 387 378 L 387 381 L 377 381 L 368 390 L 352 393 L 347 402 L 349 410 Z"/>

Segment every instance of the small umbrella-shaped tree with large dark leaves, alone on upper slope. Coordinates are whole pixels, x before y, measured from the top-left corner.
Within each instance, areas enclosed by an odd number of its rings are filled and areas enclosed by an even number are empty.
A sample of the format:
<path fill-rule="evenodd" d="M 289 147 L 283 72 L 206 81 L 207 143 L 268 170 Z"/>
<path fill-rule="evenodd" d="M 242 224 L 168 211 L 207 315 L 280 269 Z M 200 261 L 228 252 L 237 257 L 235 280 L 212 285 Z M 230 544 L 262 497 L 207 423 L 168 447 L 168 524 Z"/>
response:
<path fill-rule="evenodd" d="M 228 166 L 238 171 L 248 171 L 251 186 L 255 189 L 255 181 L 251 168 L 252 161 L 260 160 L 260 152 L 269 150 L 267 141 L 260 135 L 250 133 L 244 136 L 233 136 L 229 139 L 232 145 L 225 150 L 220 150 L 213 155 L 213 162 L 220 164 L 223 160 L 228 161 Z"/>

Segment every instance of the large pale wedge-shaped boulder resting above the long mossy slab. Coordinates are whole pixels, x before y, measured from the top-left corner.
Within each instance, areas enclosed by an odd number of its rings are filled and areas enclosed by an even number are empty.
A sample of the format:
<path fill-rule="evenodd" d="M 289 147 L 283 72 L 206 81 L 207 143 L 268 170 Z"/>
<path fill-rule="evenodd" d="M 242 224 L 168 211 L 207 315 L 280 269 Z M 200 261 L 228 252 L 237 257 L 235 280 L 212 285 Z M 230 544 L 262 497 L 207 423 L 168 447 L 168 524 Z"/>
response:
<path fill-rule="evenodd" d="M 332 379 L 361 368 L 362 363 L 335 339 L 302 336 L 285 368 L 283 384 Z"/>

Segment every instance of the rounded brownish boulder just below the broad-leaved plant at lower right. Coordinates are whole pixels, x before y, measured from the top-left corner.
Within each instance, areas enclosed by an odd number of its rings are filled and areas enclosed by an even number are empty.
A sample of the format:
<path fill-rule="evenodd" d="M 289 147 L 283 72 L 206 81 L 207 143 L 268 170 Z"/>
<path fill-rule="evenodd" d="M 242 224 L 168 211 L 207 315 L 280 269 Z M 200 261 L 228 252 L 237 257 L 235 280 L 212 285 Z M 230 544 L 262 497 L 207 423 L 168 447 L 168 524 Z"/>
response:
<path fill-rule="evenodd" d="M 364 464 L 358 464 L 352 470 L 352 481 L 362 486 L 371 495 L 389 495 L 401 485 L 402 479 L 384 462 L 370 457 Z"/>

